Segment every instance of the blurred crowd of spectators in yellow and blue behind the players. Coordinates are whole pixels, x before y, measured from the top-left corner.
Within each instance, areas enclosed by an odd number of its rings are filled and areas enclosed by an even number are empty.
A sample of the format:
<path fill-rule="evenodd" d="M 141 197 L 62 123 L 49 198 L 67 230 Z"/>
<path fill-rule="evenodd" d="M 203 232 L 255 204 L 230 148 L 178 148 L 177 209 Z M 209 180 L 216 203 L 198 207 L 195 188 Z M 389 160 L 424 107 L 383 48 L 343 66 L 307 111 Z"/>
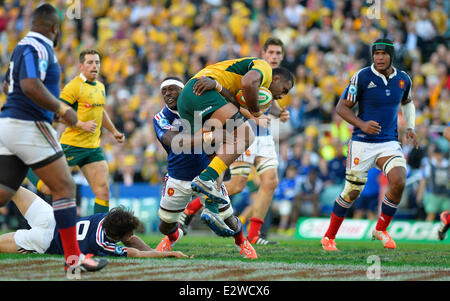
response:
<path fill-rule="evenodd" d="M 46 2 L 55 5 L 63 18 L 56 49 L 62 84 L 78 75 L 82 49 L 102 53 L 105 108 L 127 139 L 120 145 L 109 133 L 102 136 L 112 181 L 125 185 L 162 182 L 166 154 L 155 139 L 151 119 L 163 107 L 159 91 L 163 78 L 179 76 L 187 81 L 205 65 L 259 57 L 264 41 L 273 36 L 284 42 L 282 65 L 295 74 L 296 83 L 280 102 L 291 119 L 273 133 L 279 147 L 280 185 L 271 214 L 280 231 L 287 231 L 296 216 L 328 215 L 344 180 L 346 143 L 352 130 L 334 108 L 353 73 L 371 64 L 371 43 L 384 36 L 394 41 L 394 66 L 413 81 L 416 132 L 421 141 L 417 150 L 404 146 L 409 182 L 399 214 L 434 220 L 433 213 L 442 208 L 427 209 L 424 199 L 435 191 L 444 195 L 442 206 L 449 206 L 449 145 L 442 137 L 450 116 L 449 1 Z M 0 0 L 1 82 L 38 3 Z M 5 99 L 1 94 L 0 106 Z M 61 130 L 61 125 L 57 127 Z M 400 116 L 401 141 L 404 130 Z M 433 164 L 441 169 L 447 164 L 446 173 L 439 173 L 441 178 L 424 176 L 434 170 Z M 386 186 L 383 177 L 376 170 L 371 174 L 365 192 L 368 200 L 355 207 L 355 217 L 371 218 L 376 212 L 377 198 Z M 257 176 L 251 181 L 257 182 Z M 248 192 L 251 195 L 251 189 Z"/>

